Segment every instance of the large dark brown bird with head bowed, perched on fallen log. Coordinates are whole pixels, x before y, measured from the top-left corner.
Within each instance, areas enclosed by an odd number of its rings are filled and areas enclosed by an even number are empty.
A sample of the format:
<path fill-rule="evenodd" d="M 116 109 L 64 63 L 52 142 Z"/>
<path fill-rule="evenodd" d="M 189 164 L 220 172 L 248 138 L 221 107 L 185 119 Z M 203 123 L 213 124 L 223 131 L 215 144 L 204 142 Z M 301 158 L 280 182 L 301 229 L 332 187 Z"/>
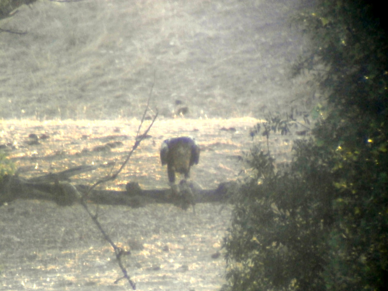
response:
<path fill-rule="evenodd" d="M 161 147 L 162 165 L 167 164 L 168 181 L 175 184 L 175 173 L 190 176 L 190 167 L 199 162 L 199 146 L 188 136 L 166 139 Z"/>

